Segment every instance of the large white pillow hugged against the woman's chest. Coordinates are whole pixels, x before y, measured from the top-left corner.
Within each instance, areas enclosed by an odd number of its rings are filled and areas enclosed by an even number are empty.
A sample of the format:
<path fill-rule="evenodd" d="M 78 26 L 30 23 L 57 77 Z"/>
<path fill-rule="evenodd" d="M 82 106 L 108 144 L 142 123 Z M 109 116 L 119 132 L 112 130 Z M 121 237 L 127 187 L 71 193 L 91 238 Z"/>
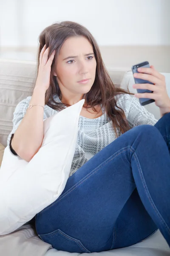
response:
<path fill-rule="evenodd" d="M 0 235 L 31 220 L 65 188 L 77 143 L 85 100 L 44 120 L 42 146 L 27 162 L 5 148 L 0 168 Z"/>

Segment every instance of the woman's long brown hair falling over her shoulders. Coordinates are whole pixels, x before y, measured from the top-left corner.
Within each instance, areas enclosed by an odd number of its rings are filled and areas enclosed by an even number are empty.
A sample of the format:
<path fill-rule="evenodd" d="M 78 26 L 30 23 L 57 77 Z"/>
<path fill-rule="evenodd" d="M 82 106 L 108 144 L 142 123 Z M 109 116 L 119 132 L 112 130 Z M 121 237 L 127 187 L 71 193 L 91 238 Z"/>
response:
<path fill-rule="evenodd" d="M 103 63 L 102 56 L 99 50 L 99 46 L 94 39 L 93 35 L 86 29 L 84 26 L 79 23 L 75 23 L 72 21 L 62 21 L 60 23 L 54 23 L 51 26 L 46 27 L 39 36 L 39 49 L 37 52 L 37 70 L 40 64 L 40 52 L 42 47 L 46 44 L 46 48 L 49 47 L 48 57 L 55 50 L 55 56 L 53 62 L 51 64 L 51 74 L 50 74 L 50 86 L 45 93 L 45 105 L 48 105 L 50 108 L 54 110 L 61 111 L 65 108 L 66 105 L 63 103 L 59 103 L 55 101 L 56 94 L 61 98 L 61 91 L 59 89 L 59 85 L 57 82 L 56 76 L 54 76 L 57 56 L 59 55 L 59 51 L 67 38 L 73 36 L 83 36 L 88 39 L 89 43 L 93 47 L 94 56 L 96 59 L 96 77 L 94 80 L 94 84 L 91 87 L 91 90 L 88 93 L 85 93 L 82 96 L 82 99 L 85 99 L 86 105 L 85 108 L 92 108 L 96 111 L 95 106 L 101 105 L 106 111 L 108 119 L 111 119 L 113 124 L 113 129 L 116 133 L 116 137 L 118 137 L 117 129 L 125 133 L 130 130 L 130 126 L 126 119 L 125 113 L 122 108 L 119 108 L 116 105 L 115 96 L 121 93 L 130 93 L 129 90 L 125 90 L 120 88 L 119 86 L 115 86 L 108 74 L 108 71 Z M 38 75 L 38 74 L 37 74 Z M 89 107 L 88 107 L 89 106 Z M 116 109 L 116 108 L 118 109 Z M 96 111 L 97 112 L 97 111 Z"/>

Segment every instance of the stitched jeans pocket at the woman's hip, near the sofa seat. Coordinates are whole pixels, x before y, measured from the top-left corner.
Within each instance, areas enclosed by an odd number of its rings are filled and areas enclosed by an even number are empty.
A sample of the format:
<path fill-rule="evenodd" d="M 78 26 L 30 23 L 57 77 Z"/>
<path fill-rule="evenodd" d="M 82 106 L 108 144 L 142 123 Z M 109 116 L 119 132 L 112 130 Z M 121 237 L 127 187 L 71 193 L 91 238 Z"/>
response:
<path fill-rule="evenodd" d="M 67 251 L 69 253 L 91 253 L 84 247 L 82 242 L 71 236 L 68 236 L 62 230 L 55 230 L 48 234 L 38 235 L 44 242 L 51 244 L 57 250 Z"/>

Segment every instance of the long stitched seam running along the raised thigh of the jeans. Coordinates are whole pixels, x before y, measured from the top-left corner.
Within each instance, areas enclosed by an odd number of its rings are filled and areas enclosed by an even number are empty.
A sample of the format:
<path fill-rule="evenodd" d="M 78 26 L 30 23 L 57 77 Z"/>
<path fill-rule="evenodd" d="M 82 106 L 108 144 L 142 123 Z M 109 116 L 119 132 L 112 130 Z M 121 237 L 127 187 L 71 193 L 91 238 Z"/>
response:
<path fill-rule="evenodd" d="M 89 177 L 91 177 L 92 175 L 94 175 L 95 172 L 97 172 L 100 168 L 104 167 L 107 163 L 109 163 L 111 160 L 113 160 L 116 156 L 118 156 L 119 154 L 127 151 L 127 148 L 129 148 L 131 146 L 127 146 L 124 148 L 121 148 L 119 151 L 117 151 L 115 154 L 113 154 L 111 157 L 109 157 L 107 160 L 105 160 L 105 162 L 101 163 L 99 166 L 97 166 L 93 171 L 91 171 L 88 175 L 86 175 L 85 177 L 83 177 L 81 180 L 79 180 L 78 183 L 76 183 L 74 186 L 72 186 L 70 189 L 68 189 L 67 192 L 64 193 L 64 195 L 62 195 L 61 197 L 59 197 L 56 201 L 54 201 L 53 204 L 51 204 L 49 207 L 46 207 L 45 209 L 43 209 L 41 212 L 39 212 L 38 214 L 44 212 L 45 210 L 49 209 L 50 207 L 52 207 L 54 204 L 57 204 L 62 198 L 64 198 L 66 195 L 68 195 L 69 193 L 71 193 L 74 189 L 76 189 L 78 186 L 80 186 L 85 180 L 87 180 Z M 126 149 L 125 149 L 126 148 Z M 123 149 L 123 150 L 122 150 Z M 119 152 L 119 154 L 118 154 Z M 80 183 L 81 182 L 81 183 Z M 78 184 L 78 185 L 77 185 Z"/>

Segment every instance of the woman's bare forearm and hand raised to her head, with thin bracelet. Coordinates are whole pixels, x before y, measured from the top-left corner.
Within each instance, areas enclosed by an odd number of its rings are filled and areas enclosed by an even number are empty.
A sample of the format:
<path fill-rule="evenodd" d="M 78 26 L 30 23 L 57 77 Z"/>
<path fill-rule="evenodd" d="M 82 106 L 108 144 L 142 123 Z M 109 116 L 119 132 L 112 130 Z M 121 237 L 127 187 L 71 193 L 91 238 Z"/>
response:
<path fill-rule="evenodd" d="M 27 106 L 27 108 L 24 109 L 20 124 L 9 143 L 9 147 L 11 145 L 11 152 L 13 148 L 13 153 L 16 152 L 18 156 L 26 161 L 30 161 L 37 153 L 44 137 L 44 108 L 42 107 L 45 105 L 45 92 L 50 85 L 51 64 L 54 59 L 55 50 L 50 56 L 48 56 L 48 52 L 49 47 L 46 49 L 46 45 L 44 45 L 40 52 L 37 81 L 31 101 L 29 102 L 29 104 L 36 106 L 29 109 Z M 22 112 L 19 106 L 16 109 L 14 119 L 17 118 L 17 111 Z"/>

